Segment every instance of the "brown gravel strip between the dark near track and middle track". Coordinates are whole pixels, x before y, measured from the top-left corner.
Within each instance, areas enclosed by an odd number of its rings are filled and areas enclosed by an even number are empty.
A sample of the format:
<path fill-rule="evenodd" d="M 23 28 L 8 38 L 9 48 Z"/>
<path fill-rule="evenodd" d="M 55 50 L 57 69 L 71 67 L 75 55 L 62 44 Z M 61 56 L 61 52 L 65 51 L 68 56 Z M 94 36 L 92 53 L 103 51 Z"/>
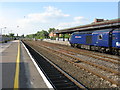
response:
<path fill-rule="evenodd" d="M 61 69 L 63 69 L 68 74 L 70 74 L 72 77 L 74 77 L 79 82 L 83 83 L 88 88 L 114 88 L 114 87 L 118 87 L 115 84 L 111 84 L 110 82 L 105 81 L 102 78 L 95 76 L 95 75 L 93 75 L 93 74 L 91 74 L 91 73 L 89 73 L 81 68 L 78 68 L 75 65 L 57 57 L 56 55 L 53 55 L 53 52 L 46 51 L 44 48 L 38 46 L 37 45 L 38 42 L 37 43 L 27 42 L 27 43 L 29 43 L 30 46 L 35 48 L 37 51 L 39 51 L 41 54 L 43 54 L 45 57 L 47 57 L 49 60 L 54 62 Z M 62 55 L 61 55 L 61 57 L 62 57 Z M 66 59 L 69 59 L 69 58 L 66 57 Z M 83 65 L 85 65 L 85 64 L 83 64 Z M 86 66 L 86 67 L 89 68 L 91 66 Z M 116 78 L 118 78 L 118 77 L 116 77 Z"/>

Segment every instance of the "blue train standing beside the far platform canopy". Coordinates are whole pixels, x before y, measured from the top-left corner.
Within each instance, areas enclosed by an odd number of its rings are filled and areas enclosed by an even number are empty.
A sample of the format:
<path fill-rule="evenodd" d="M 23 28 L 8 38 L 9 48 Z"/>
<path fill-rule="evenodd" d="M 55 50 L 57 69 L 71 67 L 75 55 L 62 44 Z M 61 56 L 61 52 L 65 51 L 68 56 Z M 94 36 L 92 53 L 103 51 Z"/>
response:
<path fill-rule="evenodd" d="M 120 55 L 120 28 L 74 32 L 69 42 L 72 47 Z"/>

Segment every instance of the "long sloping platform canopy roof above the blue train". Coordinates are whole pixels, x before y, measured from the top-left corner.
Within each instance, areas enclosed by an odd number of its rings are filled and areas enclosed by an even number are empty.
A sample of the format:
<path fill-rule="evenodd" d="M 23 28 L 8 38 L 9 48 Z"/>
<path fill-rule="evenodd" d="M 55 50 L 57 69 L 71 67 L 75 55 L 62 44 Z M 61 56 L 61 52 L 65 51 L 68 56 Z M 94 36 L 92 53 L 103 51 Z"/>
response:
<path fill-rule="evenodd" d="M 73 33 L 80 31 L 90 31 L 90 30 L 100 30 L 103 28 L 120 28 L 120 18 L 112 19 L 112 20 L 104 20 L 101 22 L 93 22 L 87 25 L 81 25 L 61 30 L 55 30 L 56 34 L 65 34 L 65 33 Z"/>

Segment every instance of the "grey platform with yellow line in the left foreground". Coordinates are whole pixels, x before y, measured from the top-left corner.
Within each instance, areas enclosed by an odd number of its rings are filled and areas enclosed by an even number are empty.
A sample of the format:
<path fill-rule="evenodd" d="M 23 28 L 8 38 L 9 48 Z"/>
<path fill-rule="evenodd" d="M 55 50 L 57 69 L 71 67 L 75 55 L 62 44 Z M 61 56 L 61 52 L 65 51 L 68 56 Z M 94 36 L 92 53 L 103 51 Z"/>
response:
<path fill-rule="evenodd" d="M 1 45 L 0 54 L 0 88 L 50 87 L 19 40 Z"/>

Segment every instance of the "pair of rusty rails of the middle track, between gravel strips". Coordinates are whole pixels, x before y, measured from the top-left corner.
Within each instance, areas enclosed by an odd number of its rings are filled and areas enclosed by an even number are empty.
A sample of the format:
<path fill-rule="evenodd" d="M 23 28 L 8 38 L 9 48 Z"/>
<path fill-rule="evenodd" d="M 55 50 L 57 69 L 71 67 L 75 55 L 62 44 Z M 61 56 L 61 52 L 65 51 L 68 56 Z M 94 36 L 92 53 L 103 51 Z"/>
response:
<path fill-rule="evenodd" d="M 43 46 L 43 47 L 45 47 L 45 46 Z M 50 49 L 50 48 L 48 48 L 48 47 L 45 47 L 45 48 L 47 48 L 49 51 L 52 51 L 52 49 Z M 73 64 L 76 65 L 77 67 L 80 67 L 80 68 L 82 68 L 82 69 L 84 69 L 84 70 L 87 70 L 88 72 L 93 73 L 93 74 L 95 74 L 95 75 L 97 75 L 97 76 L 99 76 L 99 77 L 101 77 L 101 78 L 103 78 L 103 79 L 105 79 L 105 80 L 107 80 L 107 81 L 110 81 L 110 82 L 113 83 L 113 84 L 119 85 L 118 81 L 114 81 L 114 80 L 112 80 L 112 79 L 109 79 L 108 77 L 106 77 L 106 76 L 104 76 L 104 75 L 102 75 L 102 74 L 100 74 L 100 73 L 96 73 L 96 72 L 94 72 L 93 70 L 88 69 L 87 67 L 81 66 L 81 65 L 76 64 L 76 63 L 84 62 L 84 63 L 87 63 L 87 64 L 92 65 L 92 66 L 94 66 L 94 67 L 97 67 L 97 68 L 100 68 L 100 69 L 103 69 L 103 70 L 106 70 L 106 71 L 108 71 L 108 72 L 112 72 L 112 73 L 115 73 L 115 74 L 119 74 L 118 71 L 115 71 L 115 70 L 112 70 L 112 69 L 110 69 L 110 68 L 106 68 L 106 67 L 103 67 L 103 66 L 100 66 L 100 65 L 97 65 L 97 64 L 93 64 L 93 63 L 88 62 L 88 61 L 84 61 L 84 60 L 82 60 L 82 59 L 73 57 L 73 56 L 71 56 L 71 55 L 68 55 L 68 54 L 63 53 L 63 52 L 60 52 L 60 51 L 55 51 L 55 50 L 54 50 L 53 52 L 61 53 L 61 54 L 64 54 L 65 56 L 71 57 L 71 58 L 74 59 L 74 61 L 70 61 L 70 60 L 67 60 L 67 59 L 64 59 L 64 60 L 67 61 L 67 62 L 73 63 Z M 53 53 L 53 54 L 54 54 L 54 53 Z M 54 54 L 54 55 L 57 55 L 57 54 Z M 59 56 L 57 55 L 57 57 L 59 57 Z M 59 57 L 59 58 L 60 58 L 60 57 Z M 63 59 L 63 58 L 61 58 L 61 59 Z"/>

